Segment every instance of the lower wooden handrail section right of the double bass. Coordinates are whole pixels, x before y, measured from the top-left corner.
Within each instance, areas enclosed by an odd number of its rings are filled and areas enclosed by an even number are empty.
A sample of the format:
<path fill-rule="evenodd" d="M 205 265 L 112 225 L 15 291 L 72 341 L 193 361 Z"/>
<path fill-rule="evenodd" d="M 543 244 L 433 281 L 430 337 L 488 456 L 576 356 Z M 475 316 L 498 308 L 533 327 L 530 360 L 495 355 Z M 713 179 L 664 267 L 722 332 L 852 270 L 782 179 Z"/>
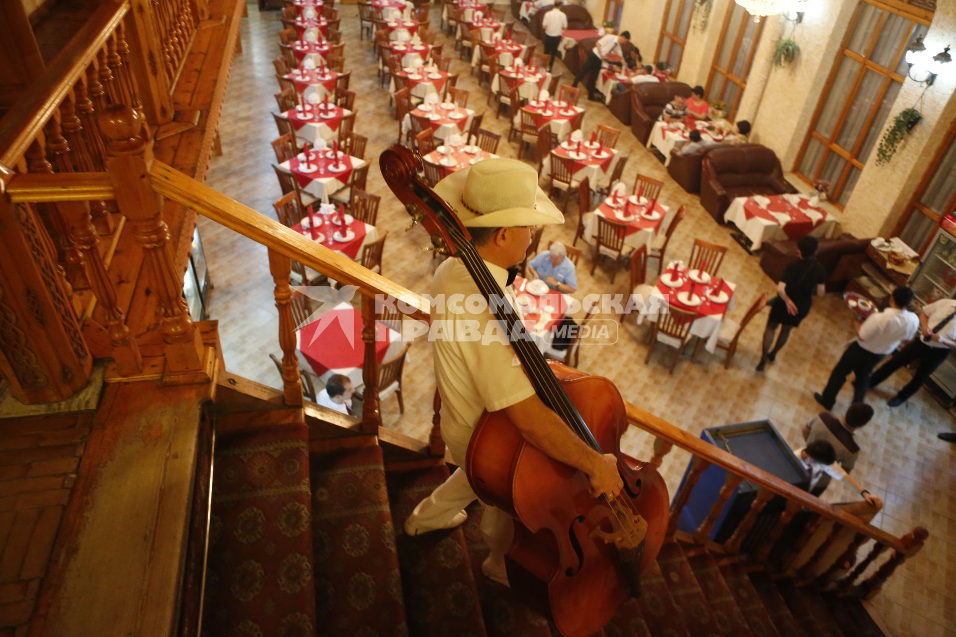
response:
<path fill-rule="evenodd" d="M 624 407 L 627 412 L 627 421 L 633 427 L 637 427 L 648 434 L 655 435 L 672 445 L 680 447 L 695 457 L 704 458 L 710 464 L 726 469 L 732 474 L 743 476 L 747 481 L 764 487 L 778 496 L 783 496 L 786 499 L 798 502 L 800 506 L 820 514 L 827 520 L 834 520 L 847 528 L 853 529 L 857 533 L 862 533 L 866 537 L 886 544 L 898 551 L 906 550 L 906 547 L 899 538 L 886 533 L 876 526 L 867 524 L 858 517 L 838 509 L 802 489 L 797 489 L 793 484 L 785 482 L 759 467 L 753 466 L 750 462 L 733 456 L 696 435 L 691 435 L 689 432 L 675 427 L 666 420 L 648 414 L 631 403 L 625 401 Z"/>

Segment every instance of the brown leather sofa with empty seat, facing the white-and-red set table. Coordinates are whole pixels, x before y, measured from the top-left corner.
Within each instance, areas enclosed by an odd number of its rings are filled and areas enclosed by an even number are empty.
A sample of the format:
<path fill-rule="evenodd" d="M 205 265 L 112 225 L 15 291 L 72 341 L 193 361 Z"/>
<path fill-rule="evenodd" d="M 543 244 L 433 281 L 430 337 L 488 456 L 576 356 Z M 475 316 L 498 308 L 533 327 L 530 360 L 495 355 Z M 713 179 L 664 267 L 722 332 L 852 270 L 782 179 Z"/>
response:
<path fill-rule="evenodd" d="M 797 192 L 767 146 L 724 145 L 711 149 L 701 163 L 701 204 L 718 223 L 724 223 L 724 213 L 737 197 Z"/>

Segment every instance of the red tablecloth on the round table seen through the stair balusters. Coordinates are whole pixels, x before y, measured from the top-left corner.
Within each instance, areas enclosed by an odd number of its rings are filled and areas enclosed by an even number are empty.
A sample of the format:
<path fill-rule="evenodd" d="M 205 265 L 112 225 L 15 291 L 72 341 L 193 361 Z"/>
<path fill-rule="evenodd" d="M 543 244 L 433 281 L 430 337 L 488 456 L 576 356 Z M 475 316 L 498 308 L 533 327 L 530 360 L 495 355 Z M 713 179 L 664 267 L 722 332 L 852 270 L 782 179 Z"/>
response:
<path fill-rule="evenodd" d="M 299 351 L 319 376 L 329 370 L 360 369 L 365 362 L 361 328 L 361 312 L 358 309 L 329 310 L 299 329 Z M 388 328 L 376 323 L 375 353 L 379 363 L 385 359 L 390 341 Z"/>

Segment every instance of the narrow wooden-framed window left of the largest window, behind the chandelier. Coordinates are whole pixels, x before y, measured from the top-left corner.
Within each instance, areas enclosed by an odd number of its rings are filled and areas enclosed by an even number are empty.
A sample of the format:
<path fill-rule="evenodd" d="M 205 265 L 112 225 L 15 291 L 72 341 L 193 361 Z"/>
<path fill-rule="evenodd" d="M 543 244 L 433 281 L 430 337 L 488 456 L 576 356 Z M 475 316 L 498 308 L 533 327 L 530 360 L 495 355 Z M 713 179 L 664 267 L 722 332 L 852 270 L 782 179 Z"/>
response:
<path fill-rule="evenodd" d="M 727 105 L 727 117 L 732 121 L 740 104 L 740 96 L 747 87 L 747 76 L 753 52 L 757 50 L 764 21 L 754 22 L 753 16 L 733 3 L 720 33 L 720 49 L 714 54 L 707 77 L 707 101 L 721 100 Z"/>

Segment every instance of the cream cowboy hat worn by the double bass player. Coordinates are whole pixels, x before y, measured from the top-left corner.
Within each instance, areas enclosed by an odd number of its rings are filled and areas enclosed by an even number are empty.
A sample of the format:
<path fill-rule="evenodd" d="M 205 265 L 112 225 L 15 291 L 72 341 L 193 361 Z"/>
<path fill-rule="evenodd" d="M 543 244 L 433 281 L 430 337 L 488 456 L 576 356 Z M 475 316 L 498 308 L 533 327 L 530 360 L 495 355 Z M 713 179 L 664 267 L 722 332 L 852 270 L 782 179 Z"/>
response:
<path fill-rule="evenodd" d="M 435 194 L 466 227 L 500 228 L 564 223 L 537 185 L 537 172 L 517 159 L 485 159 L 435 184 Z"/>

